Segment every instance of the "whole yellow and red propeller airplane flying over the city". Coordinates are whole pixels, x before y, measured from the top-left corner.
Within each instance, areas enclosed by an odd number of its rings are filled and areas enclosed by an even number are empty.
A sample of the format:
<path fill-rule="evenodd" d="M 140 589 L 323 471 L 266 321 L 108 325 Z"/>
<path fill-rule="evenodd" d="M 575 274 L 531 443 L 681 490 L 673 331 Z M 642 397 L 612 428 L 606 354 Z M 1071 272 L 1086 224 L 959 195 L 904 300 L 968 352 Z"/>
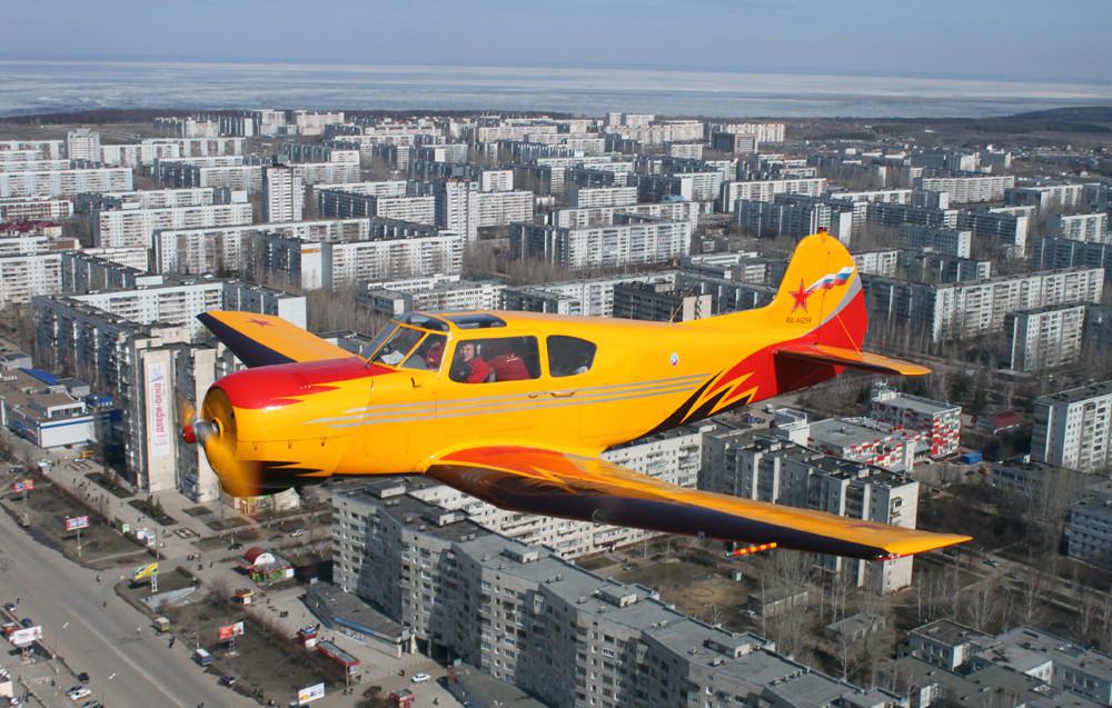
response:
<path fill-rule="evenodd" d="M 425 473 L 518 511 L 874 560 L 970 540 L 685 489 L 598 457 L 846 368 L 927 373 L 861 350 L 861 277 L 825 232 L 798 243 L 771 305 L 691 322 L 407 313 L 354 356 L 277 317 L 199 317 L 249 367 L 182 428 L 234 496 Z"/>

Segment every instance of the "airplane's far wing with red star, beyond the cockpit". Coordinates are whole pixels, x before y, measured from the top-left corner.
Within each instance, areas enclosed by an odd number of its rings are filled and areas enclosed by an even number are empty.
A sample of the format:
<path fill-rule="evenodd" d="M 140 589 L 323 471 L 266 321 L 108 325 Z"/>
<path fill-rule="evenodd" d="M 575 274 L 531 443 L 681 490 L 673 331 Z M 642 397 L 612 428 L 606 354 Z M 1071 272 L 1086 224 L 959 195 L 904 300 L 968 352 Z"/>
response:
<path fill-rule="evenodd" d="M 211 310 L 197 319 L 250 368 L 355 356 L 272 315 Z"/>

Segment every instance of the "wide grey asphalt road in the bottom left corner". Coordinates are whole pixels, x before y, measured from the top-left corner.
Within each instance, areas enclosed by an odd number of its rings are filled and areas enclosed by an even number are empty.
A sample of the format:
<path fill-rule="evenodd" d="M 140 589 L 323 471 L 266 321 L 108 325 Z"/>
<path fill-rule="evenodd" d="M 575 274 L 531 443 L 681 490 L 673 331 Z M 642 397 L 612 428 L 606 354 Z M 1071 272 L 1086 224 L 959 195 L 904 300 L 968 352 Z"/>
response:
<path fill-rule="evenodd" d="M 97 582 L 95 571 L 36 542 L 7 513 L 0 513 L 0 534 L 8 559 L 8 570 L 0 574 L 0 597 L 4 601 L 18 597 L 17 615 L 41 625 L 46 645 L 57 648 L 75 671 L 89 672 L 91 698 L 112 708 L 258 705 L 218 686 L 215 676 L 189 659 L 186 642 L 169 649 L 166 638 L 155 636 L 139 612 Z M 138 635 L 137 625 L 141 625 Z M 14 657 L 7 661 L 16 664 Z M 76 682 L 60 670 L 59 690 Z M 40 692 L 44 698 L 51 695 L 49 688 Z M 64 696 L 57 698 L 54 705 L 71 705 Z"/>

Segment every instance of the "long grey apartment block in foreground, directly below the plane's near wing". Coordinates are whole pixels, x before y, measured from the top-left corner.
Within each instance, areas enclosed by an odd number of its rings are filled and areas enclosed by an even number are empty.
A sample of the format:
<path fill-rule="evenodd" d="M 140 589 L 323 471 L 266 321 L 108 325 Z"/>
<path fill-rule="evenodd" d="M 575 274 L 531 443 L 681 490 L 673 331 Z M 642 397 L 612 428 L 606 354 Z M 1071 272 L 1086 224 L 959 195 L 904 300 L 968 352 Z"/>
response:
<path fill-rule="evenodd" d="M 497 536 L 383 482 L 334 498 L 336 584 L 450 655 L 563 707 L 868 700 L 655 591 Z M 886 699 L 872 696 L 873 706 Z"/>

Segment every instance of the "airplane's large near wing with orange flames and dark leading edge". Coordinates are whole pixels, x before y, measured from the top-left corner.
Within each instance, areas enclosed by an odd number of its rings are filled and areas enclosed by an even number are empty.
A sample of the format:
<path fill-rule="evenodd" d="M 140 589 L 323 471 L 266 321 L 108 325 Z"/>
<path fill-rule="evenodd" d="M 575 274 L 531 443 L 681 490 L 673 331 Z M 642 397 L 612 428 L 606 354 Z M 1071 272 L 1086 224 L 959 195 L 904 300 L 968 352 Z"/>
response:
<path fill-rule="evenodd" d="M 459 450 L 434 479 L 497 507 L 668 534 L 880 560 L 971 540 L 685 489 L 598 458 L 522 447 Z"/>

